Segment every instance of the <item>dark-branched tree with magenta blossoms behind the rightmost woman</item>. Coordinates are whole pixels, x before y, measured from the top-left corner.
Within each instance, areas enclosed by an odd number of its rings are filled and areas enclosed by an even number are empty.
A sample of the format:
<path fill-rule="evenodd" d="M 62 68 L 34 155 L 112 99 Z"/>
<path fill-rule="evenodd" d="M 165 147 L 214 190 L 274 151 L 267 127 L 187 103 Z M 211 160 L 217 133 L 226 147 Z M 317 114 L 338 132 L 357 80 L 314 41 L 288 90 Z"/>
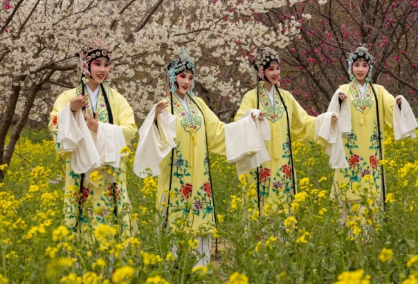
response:
<path fill-rule="evenodd" d="M 296 19 L 300 37 L 282 50 L 282 86 L 316 115 L 349 82 L 347 54 L 360 43 L 375 57 L 372 82 L 405 96 L 418 92 L 418 1 L 305 1 L 255 17 L 266 26 Z"/>

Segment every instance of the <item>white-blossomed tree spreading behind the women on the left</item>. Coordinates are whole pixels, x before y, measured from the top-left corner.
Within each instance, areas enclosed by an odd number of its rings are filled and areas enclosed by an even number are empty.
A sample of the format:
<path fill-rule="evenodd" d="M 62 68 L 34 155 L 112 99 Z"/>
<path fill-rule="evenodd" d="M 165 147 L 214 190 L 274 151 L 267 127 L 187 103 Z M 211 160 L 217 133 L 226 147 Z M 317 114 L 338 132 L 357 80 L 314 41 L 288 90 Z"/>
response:
<path fill-rule="evenodd" d="M 8 164 L 28 120 L 48 119 L 57 95 L 77 86 L 87 37 L 112 46 L 112 82 L 138 118 L 165 95 L 166 64 L 190 52 L 197 93 L 219 114 L 248 88 L 248 54 L 287 46 L 300 31 L 289 17 L 258 21 L 298 0 L 15 0 L 0 2 L 0 164 Z M 224 104 L 228 102 L 228 104 Z M 231 114 L 229 114 L 231 115 Z M 6 135 L 10 140 L 6 144 Z M 0 172 L 0 180 L 3 173 Z"/>

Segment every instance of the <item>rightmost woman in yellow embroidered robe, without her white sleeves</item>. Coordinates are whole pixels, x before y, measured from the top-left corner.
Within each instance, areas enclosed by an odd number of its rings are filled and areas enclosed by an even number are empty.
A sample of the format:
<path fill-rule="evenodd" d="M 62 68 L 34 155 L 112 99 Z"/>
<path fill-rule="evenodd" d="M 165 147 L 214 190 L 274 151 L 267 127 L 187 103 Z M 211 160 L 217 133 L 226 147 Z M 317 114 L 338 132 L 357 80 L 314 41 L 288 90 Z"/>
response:
<path fill-rule="evenodd" d="M 351 133 L 343 137 L 345 157 L 349 167 L 337 169 L 334 175 L 331 197 L 345 202 L 361 200 L 361 195 L 385 203 L 385 181 L 383 165 L 385 124 L 393 127 L 395 99 L 383 86 L 371 84 L 373 57 L 361 46 L 349 55 L 349 84 L 338 88 L 340 107 L 349 103 Z M 345 94 L 348 97 L 345 97 Z M 401 99 L 396 100 L 401 104 Z M 400 107 L 400 106 L 399 106 Z M 346 217 L 343 209 L 342 223 Z"/>

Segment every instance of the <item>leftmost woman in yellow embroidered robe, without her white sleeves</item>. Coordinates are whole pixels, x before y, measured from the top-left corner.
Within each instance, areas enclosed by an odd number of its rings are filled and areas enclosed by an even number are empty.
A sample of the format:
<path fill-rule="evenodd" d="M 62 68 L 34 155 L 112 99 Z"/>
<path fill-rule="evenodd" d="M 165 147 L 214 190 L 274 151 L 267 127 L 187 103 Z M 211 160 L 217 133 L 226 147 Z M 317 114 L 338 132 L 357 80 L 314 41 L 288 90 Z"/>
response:
<path fill-rule="evenodd" d="M 49 122 L 55 150 L 66 162 L 65 224 L 72 231 L 83 232 L 82 227 L 114 225 L 122 220 L 124 225 L 120 226 L 121 232 L 131 236 L 136 234 L 138 227 L 127 214 L 131 205 L 126 188 L 125 158 L 120 160 L 117 169 L 110 166 L 101 169 L 104 173 L 116 176 L 116 182 L 103 179 L 100 181 L 101 185 L 96 182 L 98 186 L 95 186 L 88 181 L 89 176 L 86 176 L 86 173 L 76 173 L 73 170 L 71 160 L 74 153 L 64 151 L 62 142 L 57 141 L 60 123 L 64 124 L 60 122 L 60 113 L 68 107 L 73 115 L 83 111 L 93 140 L 96 139 L 100 124 L 119 126 L 123 135 L 121 139 L 124 139 L 127 145 L 131 144 L 136 135 L 134 112 L 127 100 L 118 91 L 102 84 L 104 79 L 109 79 L 109 46 L 104 44 L 102 39 L 92 39 L 80 50 L 78 68 L 81 84 L 57 97 Z M 119 153 L 120 149 L 115 151 Z M 85 237 L 91 239 L 91 234 Z"/>

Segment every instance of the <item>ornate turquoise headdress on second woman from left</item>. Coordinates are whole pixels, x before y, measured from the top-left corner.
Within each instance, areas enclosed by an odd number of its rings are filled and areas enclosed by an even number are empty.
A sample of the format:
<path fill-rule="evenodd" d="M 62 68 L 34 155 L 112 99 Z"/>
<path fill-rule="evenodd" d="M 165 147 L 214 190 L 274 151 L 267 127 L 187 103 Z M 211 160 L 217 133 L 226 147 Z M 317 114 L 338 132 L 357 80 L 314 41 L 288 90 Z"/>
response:
<path fill-rule="evenodd" d="M 181 50 L 180 59 L 174 59 L 170 62 L 167 66 L 167 70 L 165 71 L 165 81 L 167 86 L 170 87 L 170 91 L 174 93 L 176 91 L 176 75 L 183 72 L 184 70 L 191 70 L 194 74 L 194 71 L 196 68 L 194 67 L 194 62 L 190 55 L 186 52 L 186 50 Z M 194 87 L 194 77 L 192 81 L 192 86 L 190 86 L 189 95 L 190 97 L 194 96 L 193 93 L 193 87 Z"/>

